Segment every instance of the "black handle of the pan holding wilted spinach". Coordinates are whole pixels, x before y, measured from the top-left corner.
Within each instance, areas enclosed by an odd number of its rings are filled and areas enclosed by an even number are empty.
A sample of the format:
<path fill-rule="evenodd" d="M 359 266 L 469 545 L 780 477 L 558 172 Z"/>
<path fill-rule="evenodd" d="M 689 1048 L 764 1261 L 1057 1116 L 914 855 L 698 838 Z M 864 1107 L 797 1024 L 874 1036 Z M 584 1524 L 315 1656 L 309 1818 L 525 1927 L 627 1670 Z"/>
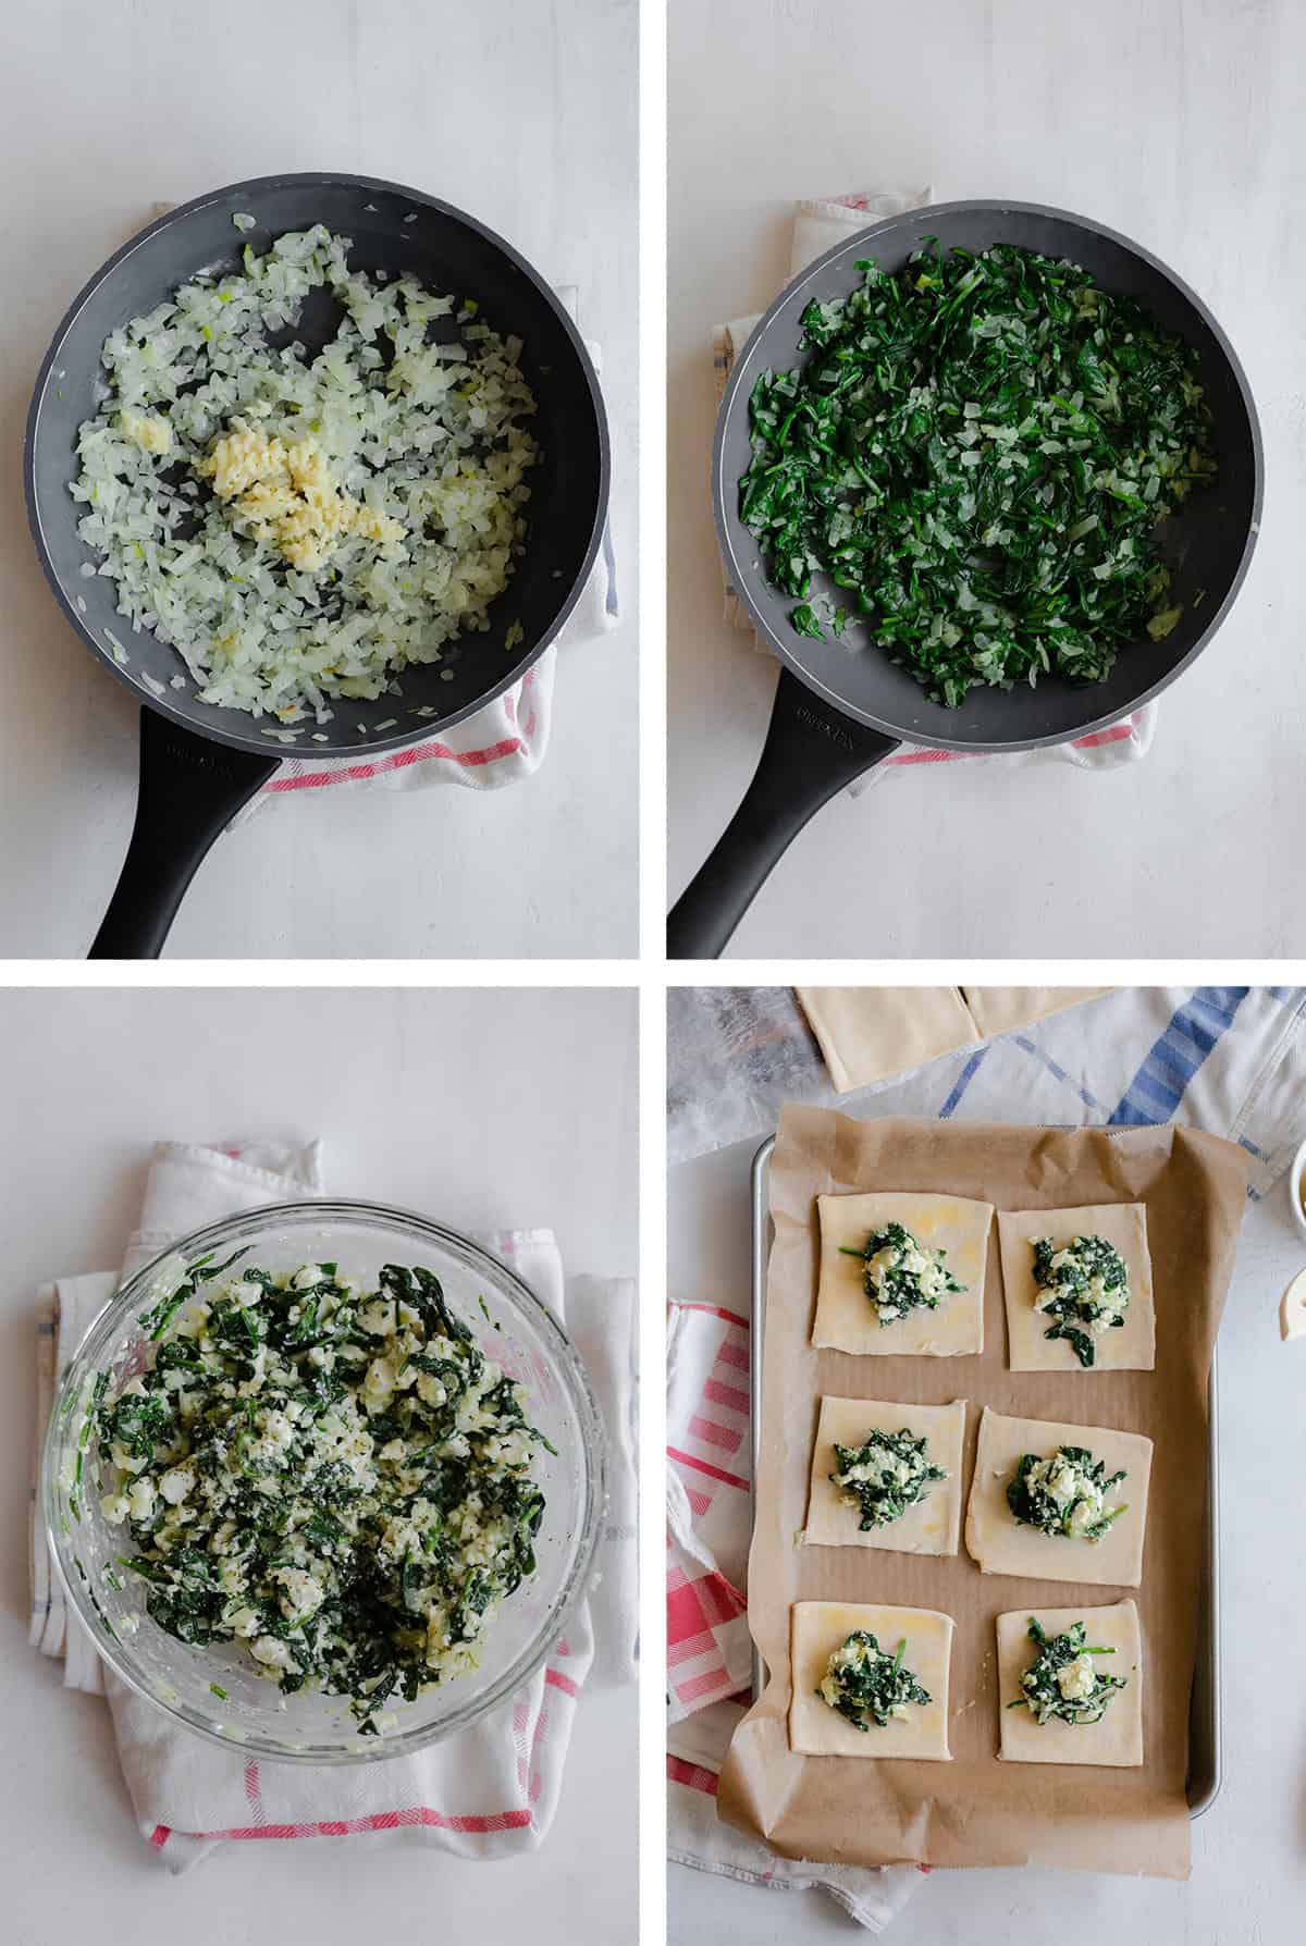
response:
<path fill-rule="evenodd" d="M 670 959 L 716 959 L 771 868 L 845 784 L 897 749 L 780 669 L 753 782 L 714 852 L 671 907 Z"/>

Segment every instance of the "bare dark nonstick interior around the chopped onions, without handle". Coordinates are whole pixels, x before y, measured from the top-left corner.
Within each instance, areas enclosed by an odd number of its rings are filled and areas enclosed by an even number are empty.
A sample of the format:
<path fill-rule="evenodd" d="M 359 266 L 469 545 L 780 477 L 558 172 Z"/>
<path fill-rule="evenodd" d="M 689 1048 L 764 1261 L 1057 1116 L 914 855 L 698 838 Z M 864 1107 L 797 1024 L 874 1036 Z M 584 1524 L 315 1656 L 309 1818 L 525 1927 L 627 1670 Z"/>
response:
<path fill-rule="evenodd" d="M 236 212 L 253 216 L 255 228 L 237 232 Z M 263 251 L 282 232 L 311 224 L 352 237 L 350 267 L 385 270 L 391 278 L 411 274 L 432 290 L 475 298 L 485 321 L 524 341 L 522 368 L 539 405 L 531 432 L 543 457 L 529 475 L 526 555 L 490 607 L 489 632 L 465 634 L 440 664 L 405 669 L 401 695 L 335 703 L 329 724 L 309 722 L 294 743 L 282 745 L 263 734 L 280 728 L 269 718 L 200 703 L 177 652 L 144 631 L 132 632 L 117 613 L 113 582 L 80 572 L 95 557 L 78 537 L 84 508 L 68 483 L 78 471 L 78 426 L 97 409 L 99 350 L 109 331 L 167 300 L 199 270 L 237 267 L 245 243 Z M 333 329 L 335 317 L 325 307 L 315 317 L 306 306 L 296 335 L 311 354 Z M 346 175 L 236 183 L 169 212 L 119 251 L 58 329 L 37 383 L 25 461 L 45 570 L 105 667 L 150 708 L 261 757 L 358 757 L 393 749 L 459 722 L 500 695 L 545 650 L 580 595 L 607 498 L 607 430 L 598 383 L 574 325 L 547 284 L 508 243 L 459 210 L 395 183 Z M 504 636 L 512 623 L 520 623 L 524 640 L 508 652 Z M 127 666 L 113 662 L 105 629 L 127 648 Z M 185 675 L 183 691 L 171 687 L 177 675 Z M 395 728 L 378 730 L 391 718 Z M 313 741 L 315 734 L 327 741 Z"/>

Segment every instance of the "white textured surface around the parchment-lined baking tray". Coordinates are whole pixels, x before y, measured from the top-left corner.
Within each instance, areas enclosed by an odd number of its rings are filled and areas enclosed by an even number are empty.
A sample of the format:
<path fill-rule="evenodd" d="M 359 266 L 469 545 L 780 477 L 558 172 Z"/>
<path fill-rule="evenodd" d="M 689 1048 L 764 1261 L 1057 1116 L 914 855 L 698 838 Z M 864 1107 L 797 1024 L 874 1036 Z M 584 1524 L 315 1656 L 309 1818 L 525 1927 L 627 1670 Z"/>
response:
<path fill-rule="evenodd" d="M 670 1296 L 710 1294 L 747 1308 L 755 1148 L 740 1142 L 671 1171 Z M 1290 1672 L 1300 1670 L 1306 1557 L 1287 1535 L 1296 1532 L 1306 1477 L 1306 1347 L 1279 1343 L 1277 1312 L 1302 1253 L 1281 1181 L 1248 1210 L 1218 1339 L 1224 1788 L 1193 1825 L 1191 1880 L 934 1872 L 888 1938 L 901 1934 L 905 1946 L 1279 1946 L 1300 1932 L 1306 1687 Z M 858 1936 L 825 1893 L 763 1892 L 685 1866 L 671 1866 L 668 1903 L 670 1946 Z"/>

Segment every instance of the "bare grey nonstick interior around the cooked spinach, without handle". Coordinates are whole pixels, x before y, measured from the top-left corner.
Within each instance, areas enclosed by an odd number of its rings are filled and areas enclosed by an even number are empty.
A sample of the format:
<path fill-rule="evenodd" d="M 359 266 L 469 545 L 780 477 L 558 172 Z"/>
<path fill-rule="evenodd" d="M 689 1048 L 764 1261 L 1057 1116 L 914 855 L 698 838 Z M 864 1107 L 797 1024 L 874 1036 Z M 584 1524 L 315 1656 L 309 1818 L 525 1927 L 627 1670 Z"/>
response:
<path fill-rule="evenodd" d="M 802 311 L 814 298 L 847 298 L 860 282 L 858 259 L 874 257 L 886 270 L 897 270 L 930 237 L 938 237 L 944 249 L 983 251 L 1014 243 L 1070 259 L 1090 270 L 1104 290 L 1137 298 L 1199 354 L 1201 383 L 1215 416 L 1218 477 L 1158 531 L 1183 615 L 1162 642 L 1144 634 L 1137 646 L 1123 648 L 1111 675 L 1094 687 L 1039 677 L 1037 689 L 973 689 L 958 708 L 932 703 L 905 669 L 868 642 L 864 629 L 851 629 L 843 642 L 794 634 L 788 623 L 794 603 L 769 586 L 757 543 L 740 520 L 738 483 L 751 453 L 747 401 L 757 374 L 790 370 L 806 356 L 798 348 Z M 1224 617 L 1252 557 L 1261 510 L 1261 438 L 1248 381 L 1218 323 L 1201 298 L 1141 245 L 1102 224 L 1034 202 L 940 202 L 893 216 L 837 245 L 767 311 L 722 401 L 712 492 L 730 578 L 759 631 L 808 689 L 845 716 L 911 743 L 1028 749 L 1119 722 L 1197 656 Z M 1197 603 L 1201 590 L 1205 597 Z"/>

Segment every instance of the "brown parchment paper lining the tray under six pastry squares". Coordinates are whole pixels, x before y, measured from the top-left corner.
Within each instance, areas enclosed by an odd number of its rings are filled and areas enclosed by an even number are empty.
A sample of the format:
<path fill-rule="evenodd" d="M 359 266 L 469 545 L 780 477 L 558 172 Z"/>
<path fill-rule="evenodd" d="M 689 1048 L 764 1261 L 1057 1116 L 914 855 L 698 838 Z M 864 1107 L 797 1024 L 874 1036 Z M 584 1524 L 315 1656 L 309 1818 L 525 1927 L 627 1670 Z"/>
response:
<path fill-rule="evenodd" d="M 837 1864 L 1053 1864 L 1183 1878 L 1183 1790 L 1197 1644 L 1211 1349 L 1246 1201 L 1246 1156 L 1189 1129 L 1051 1131 L 940 1121 L 853 1121 L 786 1107 L 771 1162 L 761 1456 L 749 1553 L 749 1627 L 769 1670 L 720 1773 L 718 1814 L 790 1858 Z M 816 1351 L 816 1197 L 942 1191 L 995 1208 L 1144 1203 L 1156 1282 L 1154 1372 L 1008 1372 L 997 1222 L 985 1275 L 985 1351 L 868 1358 Z M 969 1496 L 983 1405 L 1028 1419 L 1121 1426 L 1154 1442 L 1143 1586 L 981 1574 L 952 1557 L 800 1547 L 823 1393 L 942 1405 L 967 1399 Z M 1131 1598 L 1143 1627 L 1139 1769 L 998 1761 L 995 1617 Z M 802 1757 L 788 1748 L 790 1605 L 802 1600 L 934 1607 L 956 1619 L 952 1763 Z"/>

